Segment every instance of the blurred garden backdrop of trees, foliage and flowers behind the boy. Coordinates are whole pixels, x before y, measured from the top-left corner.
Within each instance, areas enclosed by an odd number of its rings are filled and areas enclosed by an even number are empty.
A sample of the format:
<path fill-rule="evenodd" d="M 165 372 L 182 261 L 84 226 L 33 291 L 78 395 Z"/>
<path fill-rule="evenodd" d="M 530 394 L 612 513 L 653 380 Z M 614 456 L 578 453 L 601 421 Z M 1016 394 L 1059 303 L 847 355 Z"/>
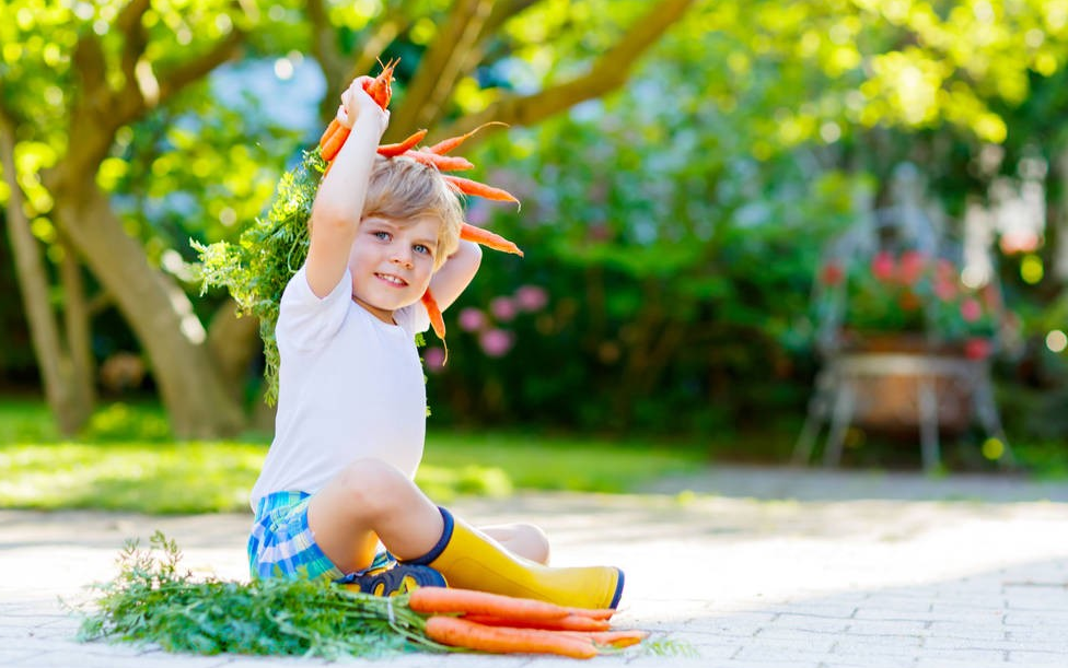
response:
<path fill-rule="evenodd" d="M 522 200 L 468 201 L 525 257 L 487 251 L 448 363 L 427 336 L 431 441 L 785 464 L 821 368 L 878 332 L 990 382 L 1003 432 L 965 396 L 941 466 L 1006 442 L 1068 474 L 1064 2 L 5 0 L 0 56 L 9 467 L 196 441 L 255 469 L 257 324 L 190 241 L 236 243 L 399 58 L 384 141 L 503 121 L 458 152 Z M 920 466 L 915 424 L 859 418 L 845 466 Z"/>

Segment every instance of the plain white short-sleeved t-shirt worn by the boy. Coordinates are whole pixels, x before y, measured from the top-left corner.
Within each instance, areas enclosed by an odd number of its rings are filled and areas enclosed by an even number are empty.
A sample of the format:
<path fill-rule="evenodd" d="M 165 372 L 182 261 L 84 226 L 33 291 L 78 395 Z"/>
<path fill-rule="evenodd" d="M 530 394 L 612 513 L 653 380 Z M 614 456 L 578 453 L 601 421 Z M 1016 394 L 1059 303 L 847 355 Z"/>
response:
<path fill-rule="evenodd" d="M 422 304 L 388 325 L 352 301 L 348 270 L 320 300 L 304 269 L 282 293 L 275 336 L 281 359 L 275 440 L 252 491 L 314 494 L 349 462 L 381 459 L 415 477 L 427 429 L 427 387 L 415 335 Z"/>

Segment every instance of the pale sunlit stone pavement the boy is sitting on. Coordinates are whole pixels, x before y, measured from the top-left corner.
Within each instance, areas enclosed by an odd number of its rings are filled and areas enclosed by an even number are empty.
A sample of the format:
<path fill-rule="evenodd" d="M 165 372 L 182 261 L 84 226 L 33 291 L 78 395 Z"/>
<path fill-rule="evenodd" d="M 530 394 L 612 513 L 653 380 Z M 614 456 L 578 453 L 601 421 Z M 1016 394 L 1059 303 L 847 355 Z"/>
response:
<path fill-rule="evenodd" d="M 636 668 L 1068 666 L 1068 485 L 1010 477 L 717 467 L 640 495 L 464 500 L 476 523 L 536 521 L 557 564 L 627 573 L 616 625 L 696 656 L 628 651 Z M 156 528 L 186 566 L 244 577 L 245 515 L 0 511 L 0 666 L 323 665 L 191 657 L 72 641 L 84 585 Z M 410 654 L 345 664 L 547 668 L 571 659 Z"/>

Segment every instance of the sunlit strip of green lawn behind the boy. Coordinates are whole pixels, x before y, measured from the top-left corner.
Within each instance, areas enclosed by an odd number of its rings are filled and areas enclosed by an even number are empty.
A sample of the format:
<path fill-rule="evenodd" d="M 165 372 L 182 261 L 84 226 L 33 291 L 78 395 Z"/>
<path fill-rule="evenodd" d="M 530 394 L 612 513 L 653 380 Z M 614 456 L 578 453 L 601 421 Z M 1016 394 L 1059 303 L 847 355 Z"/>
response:
<path fill-rule="evenodd" d="M 46 407 L 0 401 L 0 507 L 152 514 L 246 511 L 269 440 L 176 442 L 159 407 L 115 403 L 61 438 Z M 618 493 L 703 461 L 694 446 L 430 432 L 417 482 L 436 501 L 516 490 Z"/>

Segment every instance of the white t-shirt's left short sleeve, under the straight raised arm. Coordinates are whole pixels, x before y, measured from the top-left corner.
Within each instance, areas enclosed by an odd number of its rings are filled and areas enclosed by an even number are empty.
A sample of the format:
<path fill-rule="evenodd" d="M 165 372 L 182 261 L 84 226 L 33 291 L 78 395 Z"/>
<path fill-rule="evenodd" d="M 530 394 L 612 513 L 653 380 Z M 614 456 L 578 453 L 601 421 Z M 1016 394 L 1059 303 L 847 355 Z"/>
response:
<path fill-rule="evenodd" d="M 348 269 L 338 284 L 323 298 L 307 284 L 303 267 L 293 274 L 282 292 L 278 309 L 276 337 L 300 350 L 325 344 L 341 329 L 352 298 L 352 276 Z"/>

